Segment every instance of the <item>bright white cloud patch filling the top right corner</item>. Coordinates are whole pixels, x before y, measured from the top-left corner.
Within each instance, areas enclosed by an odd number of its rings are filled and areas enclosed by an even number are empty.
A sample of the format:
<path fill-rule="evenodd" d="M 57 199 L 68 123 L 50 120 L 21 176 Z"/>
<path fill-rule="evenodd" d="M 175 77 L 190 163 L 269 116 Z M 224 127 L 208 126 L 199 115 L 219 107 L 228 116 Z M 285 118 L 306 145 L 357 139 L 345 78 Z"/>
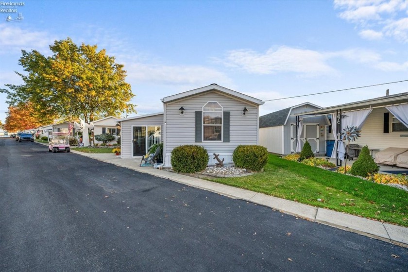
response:
<path fill-rule="evenodd" d="M 342 10 L 339 17 L 362 28 L 359 34 L 365 39 L 382 36 L 408 43 L 408 1 L 345 1 L 335 0 L 334 7 Z M 380 33 L 382 35 L 380 35 Z"/>

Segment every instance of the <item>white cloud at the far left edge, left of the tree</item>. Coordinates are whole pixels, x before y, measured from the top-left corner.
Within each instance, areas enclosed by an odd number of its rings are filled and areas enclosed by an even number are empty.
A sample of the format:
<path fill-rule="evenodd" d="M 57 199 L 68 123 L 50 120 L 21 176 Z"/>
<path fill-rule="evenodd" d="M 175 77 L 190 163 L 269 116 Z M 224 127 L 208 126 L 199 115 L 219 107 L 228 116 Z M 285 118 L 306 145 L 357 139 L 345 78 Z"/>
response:
<path fill-rule="evenodd" d="M 23 29 L 17 24 L 0 23 L 1 53 L 15 53 L 20 50 L 44 50 L 55 40 L 47 32 Z"/>

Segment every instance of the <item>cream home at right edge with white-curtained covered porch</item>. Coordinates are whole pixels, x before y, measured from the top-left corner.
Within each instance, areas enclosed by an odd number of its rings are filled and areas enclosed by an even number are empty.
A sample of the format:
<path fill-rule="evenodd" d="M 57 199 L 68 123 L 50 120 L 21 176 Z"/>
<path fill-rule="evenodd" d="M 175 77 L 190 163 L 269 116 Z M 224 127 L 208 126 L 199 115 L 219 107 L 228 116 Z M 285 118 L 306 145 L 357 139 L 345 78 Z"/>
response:
<path fill-rule="evenodd" d="M 337 120 L 332 127 L 334 138 L 346 126 L 360 127 L 361 137 L 352 142 L 360 147 L 367 145 L 378 150 L 408 147 L 408 92 L 295 114 L 300 118 L 304 115 L 327 115 Z M 333 149 L 333 158 L 337 157 L 338 144 L 339 141 Z"/>

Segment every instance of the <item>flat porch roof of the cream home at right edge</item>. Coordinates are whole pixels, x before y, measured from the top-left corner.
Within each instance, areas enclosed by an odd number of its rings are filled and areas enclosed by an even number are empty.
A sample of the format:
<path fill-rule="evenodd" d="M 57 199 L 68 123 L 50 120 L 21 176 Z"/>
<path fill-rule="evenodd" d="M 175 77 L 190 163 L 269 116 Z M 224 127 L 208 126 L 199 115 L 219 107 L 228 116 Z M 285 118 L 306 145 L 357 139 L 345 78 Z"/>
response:
<path fill-rule="evenodd" d="M 342 110 L 342 111 L 361 110 L 361 109 L 367 109 L 367 108 L 385 107 L 388 105 L 395 105 L 395 104 L 401 104 L 401 103 L 408 103 L 408 92 L 388 95 L 388 96 L 382 96 L 378 98 L 367 99 L 367 100 L 362 100 L 362 101 L 357 101 L 357 102 L 352 102 L 352 103 L 346 103 L 346 104 L 341 104 L 337 106 L 326 107 L 320 110 L 297 113 L 297 114 L 294 114 L 294 116 L 304 115 L 305 113 L 307 115 L 331 114 L 331 113 L 335 113 L 337 110 Z"/>

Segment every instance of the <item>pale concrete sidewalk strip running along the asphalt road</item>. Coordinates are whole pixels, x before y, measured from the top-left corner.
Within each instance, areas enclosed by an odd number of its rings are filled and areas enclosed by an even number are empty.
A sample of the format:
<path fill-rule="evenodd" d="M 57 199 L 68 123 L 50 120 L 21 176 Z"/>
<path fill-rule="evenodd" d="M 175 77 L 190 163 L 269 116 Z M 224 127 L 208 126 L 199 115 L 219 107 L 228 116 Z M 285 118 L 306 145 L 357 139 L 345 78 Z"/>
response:
<path fill-rule="evenodd" d="M 169 179 L 191 187 L 215 192 L 234 199 L 242 199 L 255 204 L 270 207 L 280 212 L 304 218 L 309 221 L 334 226 L 346 231 L 358 233 L 364 236 L 391 242 L 403 247 L 408 247 L 408 228 L 369 220 L 358 216 L 336 212 L 328 209 L 317 208 L 306 204 L 276 198 L 273 196 L 230 187 L 223 184 L 210 182 L 198 178 L 189 177 L 165 170 L 153 169 L 153 167 L 140 167 L 140 158 L 121 159 L 114 154 L 83 153 L 71 151 L 72 153 L 85 155 L 103 162 L 115 164 L 120 167 L 129 168 L 157 177 Z"/>

